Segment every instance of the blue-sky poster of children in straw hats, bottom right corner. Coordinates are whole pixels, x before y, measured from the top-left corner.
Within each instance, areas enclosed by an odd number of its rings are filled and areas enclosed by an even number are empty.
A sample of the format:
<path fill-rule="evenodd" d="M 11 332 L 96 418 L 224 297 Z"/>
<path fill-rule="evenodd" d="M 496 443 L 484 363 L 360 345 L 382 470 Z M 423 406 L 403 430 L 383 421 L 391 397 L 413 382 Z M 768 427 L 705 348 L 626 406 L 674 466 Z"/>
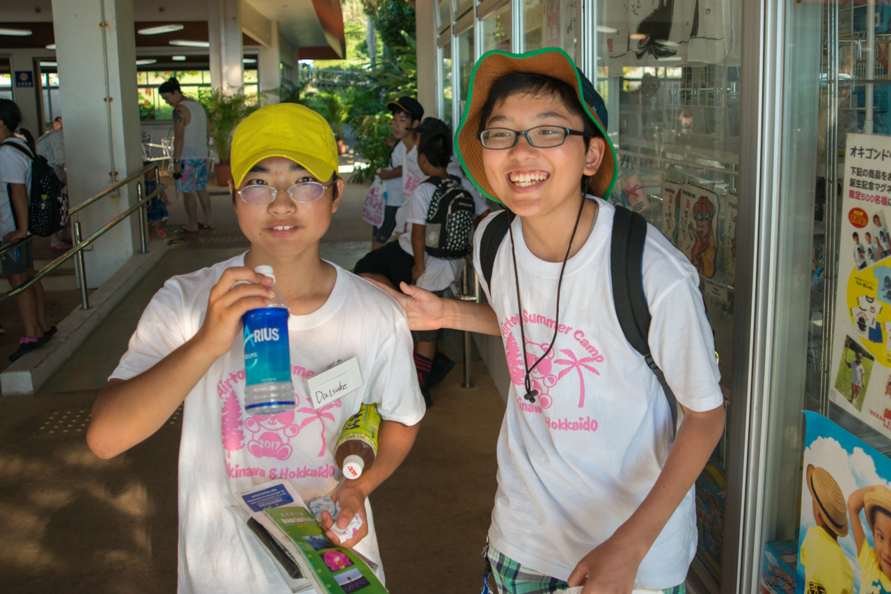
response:
<path fill-rule="evenodd" d="M 796 594 L 888 591 L 891 567 L 879 556 L 891 531 L 889 480 L 891 460 L 805 412 Z"/>

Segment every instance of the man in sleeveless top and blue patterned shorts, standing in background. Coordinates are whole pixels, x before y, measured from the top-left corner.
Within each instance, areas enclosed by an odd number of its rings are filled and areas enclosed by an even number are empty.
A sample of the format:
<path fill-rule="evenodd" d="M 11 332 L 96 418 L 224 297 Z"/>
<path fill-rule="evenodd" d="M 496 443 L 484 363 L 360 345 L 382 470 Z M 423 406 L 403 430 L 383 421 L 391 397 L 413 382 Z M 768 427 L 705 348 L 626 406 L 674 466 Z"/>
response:
<path fill-rule="evenodd" d="M 160 85 L 158 92 L 173 107 L 173 176 L 176 191 L 183 192 L 185 215 L 189 219 L 176 233 L 213 229 L 208 194 L 208 116 L 199 102 L 184 96 L 176 78 Z M 201 220 L 198 220 L 196 195 L 204 212 Z"/>

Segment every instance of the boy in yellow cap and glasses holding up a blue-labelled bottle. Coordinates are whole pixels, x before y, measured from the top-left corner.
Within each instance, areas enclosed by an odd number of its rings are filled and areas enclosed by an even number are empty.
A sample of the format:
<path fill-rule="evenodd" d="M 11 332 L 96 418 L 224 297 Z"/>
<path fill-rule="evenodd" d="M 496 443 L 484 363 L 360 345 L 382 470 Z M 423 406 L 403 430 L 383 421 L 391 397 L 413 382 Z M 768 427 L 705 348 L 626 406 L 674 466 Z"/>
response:
<path fill-rule="evenodd" d="M 304 500 L 334 490 L 342 476 L 334 460 L 337 438 L 362 403 L 377 404 L 383 419 L 377 458 L 333 498 L 341 506 L 339 526 L 356 513 L 364 519 L 343 546 L 380 565 L 367 497 L 405 459 L 424 404 L 405 315 L 367 281 L 319 258 L 319 240 L 343 192 L 337 167 L 331 128 L 306 107 L 270 105 L 242 121 L 233 135 L 230 190 L 249 251 L 169 279 L 94 404 L 87 443 L 111 458 L 152 435 L 184 403 L 180 594 L 290 592 L 233 514 L 229 493 L 275 478 L 290 479 Z M 272 266 L 274 280 L 256 273 L 259 265 Z M 270 303 L 273 282 L 290 305 L 297 406 L 249 416 L 241 315 Z M 364 384 L 314 407 L 305 378 L 352 357 Z M 323 527 L 332 524 L 326 518 Z"/>

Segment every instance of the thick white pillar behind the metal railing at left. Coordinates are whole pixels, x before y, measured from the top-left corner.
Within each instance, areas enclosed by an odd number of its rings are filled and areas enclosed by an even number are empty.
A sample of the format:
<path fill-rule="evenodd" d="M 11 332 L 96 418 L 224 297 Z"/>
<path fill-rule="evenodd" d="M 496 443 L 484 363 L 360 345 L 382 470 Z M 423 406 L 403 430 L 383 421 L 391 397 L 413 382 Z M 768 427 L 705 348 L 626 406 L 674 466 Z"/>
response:
<path fill-rule="evenodd" d="M 143 167 L 132 0 L 53 0 L 71 206 Z M 78 213 L 85 237 L 135 203 L 136 185 Z M 136 223 L 121 223 L 86 252 L 86 285 L 98 287 L 134 253 Z"/>

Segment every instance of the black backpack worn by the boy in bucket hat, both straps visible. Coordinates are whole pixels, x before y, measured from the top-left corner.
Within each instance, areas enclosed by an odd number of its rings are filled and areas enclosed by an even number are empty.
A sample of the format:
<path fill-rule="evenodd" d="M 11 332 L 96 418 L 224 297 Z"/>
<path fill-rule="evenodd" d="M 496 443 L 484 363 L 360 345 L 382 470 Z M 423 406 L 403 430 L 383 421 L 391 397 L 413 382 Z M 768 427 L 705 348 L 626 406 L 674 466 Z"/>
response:
<path fill-rule="evenodd" d="M 514 214 L 509 210 L 498 213 L 486 226 L 479 242 L 479 267 L 486 285 L 491 290 L 492 267 Z M 640 353 L 650 366 L 665 392 L 671 409 L 672 432 L 677 430 L 677 399 L 668 386 L 665 374 L 650 353 L 650 308 L 643 293 L 643 246 L 647 240 L 647 220 L 625 207 L 616 207 L 613 217 L 612 240 L 609 245 L 609 272 L 612 281 L 613 303 L 625 339 Z M 703 306 L 705 301 L 703 300 Z M 706 312 L 706 316 L 708 313 Z"/>

